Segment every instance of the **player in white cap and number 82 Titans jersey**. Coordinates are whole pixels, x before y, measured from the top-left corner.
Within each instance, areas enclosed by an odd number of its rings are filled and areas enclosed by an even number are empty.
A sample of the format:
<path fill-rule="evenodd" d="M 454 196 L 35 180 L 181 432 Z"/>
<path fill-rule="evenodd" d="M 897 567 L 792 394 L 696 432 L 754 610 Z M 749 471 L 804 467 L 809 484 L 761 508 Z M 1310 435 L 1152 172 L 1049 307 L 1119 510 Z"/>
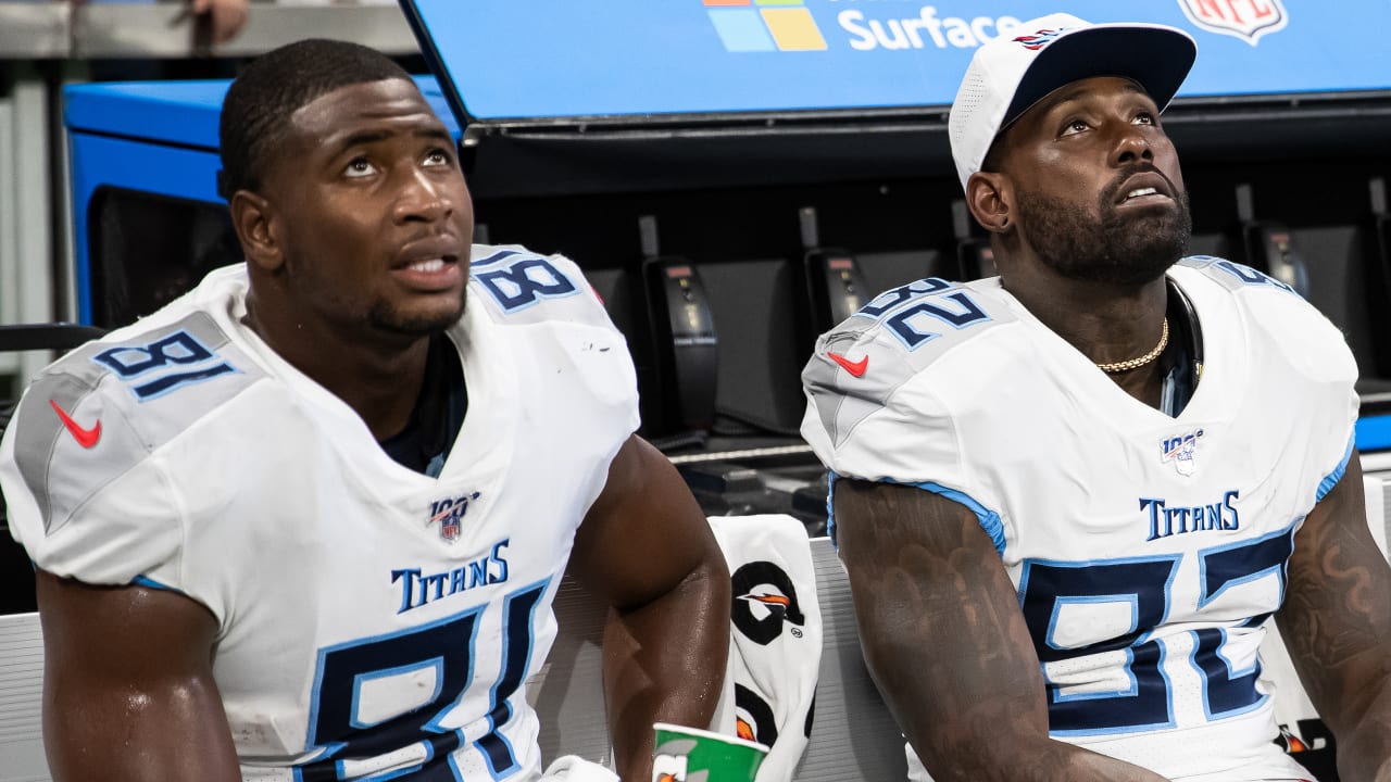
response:
<path fill-rule="evenodd" d="M 1066 14 L 983 45 L 949 131 L 999 277 L 889 291 L 807 365 L 915 776 L 1308 779 L 1259 682 L 1276 615 L 1342 779 L 1391 779 L 1356 365 L 1285 284 L 1182 257 L 1160 111 L 1195 56 Z"/>

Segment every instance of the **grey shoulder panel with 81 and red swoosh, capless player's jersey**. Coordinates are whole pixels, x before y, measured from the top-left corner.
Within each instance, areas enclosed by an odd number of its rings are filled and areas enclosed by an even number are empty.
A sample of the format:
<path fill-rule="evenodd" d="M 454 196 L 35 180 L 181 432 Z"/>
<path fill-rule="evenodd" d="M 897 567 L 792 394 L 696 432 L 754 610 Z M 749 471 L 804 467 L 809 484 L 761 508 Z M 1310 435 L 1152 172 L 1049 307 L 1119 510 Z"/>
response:
<path fill-rule="evenodd" d="M 203 312 L 122 328 L 50 365 L 10 423 L 15 466 L 50 532 L 263 376 Z"/>

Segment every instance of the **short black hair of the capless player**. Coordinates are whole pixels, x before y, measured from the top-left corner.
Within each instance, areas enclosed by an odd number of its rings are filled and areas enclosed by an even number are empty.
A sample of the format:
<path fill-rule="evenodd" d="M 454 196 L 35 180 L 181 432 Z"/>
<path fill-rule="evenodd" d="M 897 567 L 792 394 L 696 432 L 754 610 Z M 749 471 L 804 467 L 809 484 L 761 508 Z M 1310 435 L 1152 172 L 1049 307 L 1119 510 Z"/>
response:
<path fill-rule="evenodd" d="M 410 79 L 389 57 L 357 43 L 312 38 L 252 60 L 223 99 L 218 125 L 223 170 L 217 193 L 256 191 L 289 117 L 330 92 L 364 82 Z"/>

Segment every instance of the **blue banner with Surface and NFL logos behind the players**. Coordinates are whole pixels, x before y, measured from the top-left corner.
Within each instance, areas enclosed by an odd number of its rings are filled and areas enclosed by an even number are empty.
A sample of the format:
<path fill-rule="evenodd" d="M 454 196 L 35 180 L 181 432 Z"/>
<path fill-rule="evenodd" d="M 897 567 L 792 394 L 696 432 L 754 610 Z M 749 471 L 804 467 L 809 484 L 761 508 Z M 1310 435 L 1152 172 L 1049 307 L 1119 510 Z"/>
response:
<path fill-rule="evenodd" d="M 1161 22 L 1181 96 L 1391 88 L 1387 0 L 402 0 L 474 118 L 944 106 L 1020 19 Z"/>

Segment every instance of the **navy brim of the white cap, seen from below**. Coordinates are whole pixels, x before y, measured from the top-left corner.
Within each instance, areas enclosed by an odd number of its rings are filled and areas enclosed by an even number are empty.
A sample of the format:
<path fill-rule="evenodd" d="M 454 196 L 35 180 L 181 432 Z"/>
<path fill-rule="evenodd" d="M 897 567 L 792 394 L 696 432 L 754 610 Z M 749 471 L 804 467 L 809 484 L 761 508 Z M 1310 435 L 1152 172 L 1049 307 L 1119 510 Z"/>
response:
<path fill-rule="evenodd" d="M 1014 90 L 1003 131 L 1053 90 L 1081 79 L 1121 77 L 1138 83 L 1161 110 L 1198 57 L 1193 39 L 1161 26 L 1089 26 L 1043 47 Z"/>

